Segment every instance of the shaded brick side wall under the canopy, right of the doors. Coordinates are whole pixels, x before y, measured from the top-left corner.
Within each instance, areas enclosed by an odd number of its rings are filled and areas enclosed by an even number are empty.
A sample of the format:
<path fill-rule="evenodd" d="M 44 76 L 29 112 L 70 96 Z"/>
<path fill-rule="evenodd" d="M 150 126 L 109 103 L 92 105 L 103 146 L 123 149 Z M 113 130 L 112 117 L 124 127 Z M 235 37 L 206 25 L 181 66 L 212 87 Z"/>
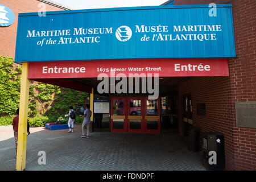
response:
<path fill-rule="evenodd" d="M 179 85 L 179 97 L 191 93 L 193 126 L 200 131 L 216 131 L 225 137 L 226 169 L 233 169 L 233 114 L 229 77 L 194 77 Z M 196 104 L 204 103 L 206 115 L 196 114 Z M 180 134 L 183 134 L 180 105 Z"/>

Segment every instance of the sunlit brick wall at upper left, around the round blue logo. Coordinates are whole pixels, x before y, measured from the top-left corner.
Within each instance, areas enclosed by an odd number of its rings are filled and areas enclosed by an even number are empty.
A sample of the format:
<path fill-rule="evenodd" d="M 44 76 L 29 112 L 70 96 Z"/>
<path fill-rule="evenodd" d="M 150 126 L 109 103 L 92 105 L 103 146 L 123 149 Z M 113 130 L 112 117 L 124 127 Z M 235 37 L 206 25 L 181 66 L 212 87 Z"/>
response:
<path fill-rule="evenodd" d="M 8 6 L 15 15 L 14 23 L 9 27 L 0 27 L 0 55 L 15 57 L 15 45 L 16 45 L 16 32 L 18 26 L 18 14 L 37 12 L 40 7 L 37 0 L 0 0 L 0 4 Z M 59 7 L 55 7 L 44 3 L 46 5 L 46 11 L 60 11 Z"/>

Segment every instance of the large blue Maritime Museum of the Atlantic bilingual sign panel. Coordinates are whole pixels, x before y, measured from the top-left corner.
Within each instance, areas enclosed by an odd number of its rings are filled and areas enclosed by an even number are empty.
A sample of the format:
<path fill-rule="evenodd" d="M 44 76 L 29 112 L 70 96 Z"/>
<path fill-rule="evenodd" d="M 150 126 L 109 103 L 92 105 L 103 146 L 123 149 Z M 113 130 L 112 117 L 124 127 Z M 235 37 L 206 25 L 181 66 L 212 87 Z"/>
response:
<path fill-rule="evenodd" d="M 16 62 L 236 57 L 232 5 L 19 14 Z"/>

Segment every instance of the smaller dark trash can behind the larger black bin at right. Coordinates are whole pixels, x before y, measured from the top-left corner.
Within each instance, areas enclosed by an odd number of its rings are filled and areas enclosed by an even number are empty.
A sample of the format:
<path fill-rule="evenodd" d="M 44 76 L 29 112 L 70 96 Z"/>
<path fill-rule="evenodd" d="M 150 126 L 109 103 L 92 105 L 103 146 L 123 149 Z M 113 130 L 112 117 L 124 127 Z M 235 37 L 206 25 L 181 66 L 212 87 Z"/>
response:
<path fill-rule="evenodd" d="M 188 131 L 188 150 L 199 151 L 199 129 L 191 127 Z"/>

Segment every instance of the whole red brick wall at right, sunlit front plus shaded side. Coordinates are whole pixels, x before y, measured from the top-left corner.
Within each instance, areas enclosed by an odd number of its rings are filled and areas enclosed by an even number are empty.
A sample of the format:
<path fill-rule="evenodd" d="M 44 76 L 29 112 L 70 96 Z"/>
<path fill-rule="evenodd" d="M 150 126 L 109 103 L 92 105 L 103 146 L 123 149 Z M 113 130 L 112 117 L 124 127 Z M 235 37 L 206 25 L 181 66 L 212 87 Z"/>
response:
<path fill-rule="evenodd" d="M 236 127 L 234 107 L 235 102 L 256 101 L 256 1 L 175 0 L 174 3 L 212 2 L 233 4 L 237 57 L 229 59 L 229 77 L 192 78 L 189 83 L 179 85 L 179 96 L 190 84 L 195 108 L 193 124 L 201 131 L 217 131 L 225 135 L 226 169 L 256 170 L 256 129 Z M 197 103 L 206 104 L 207 116 L 196 114 Z"/>

